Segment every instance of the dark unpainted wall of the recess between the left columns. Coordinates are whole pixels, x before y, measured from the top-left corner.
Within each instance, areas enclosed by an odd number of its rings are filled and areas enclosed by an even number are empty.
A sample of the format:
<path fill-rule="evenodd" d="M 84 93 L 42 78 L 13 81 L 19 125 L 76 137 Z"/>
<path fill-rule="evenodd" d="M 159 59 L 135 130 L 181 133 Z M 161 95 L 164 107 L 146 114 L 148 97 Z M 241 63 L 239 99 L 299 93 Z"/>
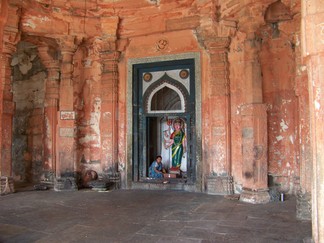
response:
<path fill-rule="evenodd" d="M 37 47 L 20 42 L 11 62 L 13 67 L 13 176 L 21 181 L 38 181 L 43 172 L 44 99 L 46 69 Z"/>

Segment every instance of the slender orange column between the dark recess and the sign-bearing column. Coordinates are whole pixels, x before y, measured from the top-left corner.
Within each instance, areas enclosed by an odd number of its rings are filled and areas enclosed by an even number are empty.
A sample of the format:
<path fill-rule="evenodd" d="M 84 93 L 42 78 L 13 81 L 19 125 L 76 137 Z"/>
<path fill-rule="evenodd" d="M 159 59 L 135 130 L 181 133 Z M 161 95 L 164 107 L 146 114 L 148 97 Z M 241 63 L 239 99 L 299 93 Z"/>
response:
<path fill-rule="evenodd" d="M 45 84 L 45 136 L 44 136 L 44 179 L 54 183 L 56 173 L 56 128 L 59 100 L 59 62 L 48 53 L 48 46 L 38 47 L 42 63 L 47 68 Z"/>

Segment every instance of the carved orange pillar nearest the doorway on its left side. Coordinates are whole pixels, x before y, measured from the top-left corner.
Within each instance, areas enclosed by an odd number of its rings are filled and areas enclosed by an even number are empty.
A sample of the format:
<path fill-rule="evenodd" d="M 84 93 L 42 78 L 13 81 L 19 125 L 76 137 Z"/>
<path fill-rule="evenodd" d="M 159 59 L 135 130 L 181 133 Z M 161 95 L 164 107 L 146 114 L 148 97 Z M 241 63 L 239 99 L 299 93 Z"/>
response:
<path fill-rule="evenodd" d="M 105 171 L 118 170 L 118 61 L 120 53 L 108 45 L 100 53 L 103 64 L 101 79 L 102 97 L 102 152 L 101 161 Z"/>

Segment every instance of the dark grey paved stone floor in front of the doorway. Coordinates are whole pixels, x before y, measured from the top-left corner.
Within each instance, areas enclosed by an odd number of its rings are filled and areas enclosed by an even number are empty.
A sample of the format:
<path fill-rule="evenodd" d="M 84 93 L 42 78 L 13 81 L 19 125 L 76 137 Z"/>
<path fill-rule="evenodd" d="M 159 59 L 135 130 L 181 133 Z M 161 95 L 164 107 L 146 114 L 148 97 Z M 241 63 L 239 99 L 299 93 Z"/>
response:
<path fill-rule="evenodd" d="M 0 242 L 303 242 L 294 197 L 250 205 L 183 191 L 22 191 L 0 197 Z"/>

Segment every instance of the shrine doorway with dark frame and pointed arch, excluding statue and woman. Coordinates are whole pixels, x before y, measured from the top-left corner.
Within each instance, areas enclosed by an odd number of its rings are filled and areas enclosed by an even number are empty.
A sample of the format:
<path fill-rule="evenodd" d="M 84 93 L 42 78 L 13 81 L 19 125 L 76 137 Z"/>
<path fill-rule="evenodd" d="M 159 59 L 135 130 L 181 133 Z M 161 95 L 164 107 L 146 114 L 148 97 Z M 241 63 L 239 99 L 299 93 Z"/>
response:
<path fill-rule="evenodd" d="M 127 186 L 147 188 L 143 182 L 150 183 L 148 168 L 157 154 L 163 155 L 166 167 L 170 165 L 163 136 L 170 127 L 169 120 L 181 118 L 187 138 L 186 155 L 181 164 L 186 182 L 179 180 L 168 186 L 201 191 L 199 53 L 131 59 L 127 87 Z M 155 185 L 150 184 L 150 188 L 154 189 Z"/>

